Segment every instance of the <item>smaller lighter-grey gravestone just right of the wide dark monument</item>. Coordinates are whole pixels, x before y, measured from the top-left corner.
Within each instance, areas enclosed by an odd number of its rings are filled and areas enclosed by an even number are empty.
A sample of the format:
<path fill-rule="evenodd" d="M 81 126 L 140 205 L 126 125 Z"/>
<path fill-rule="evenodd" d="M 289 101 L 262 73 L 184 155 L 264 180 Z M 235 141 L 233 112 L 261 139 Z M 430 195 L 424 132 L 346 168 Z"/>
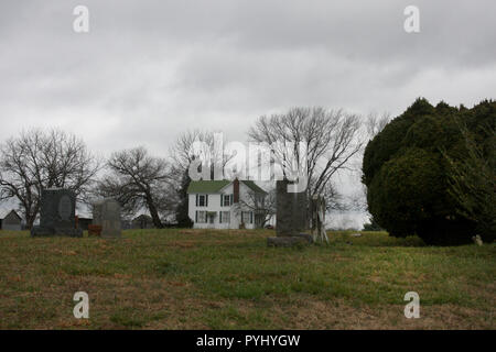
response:
<path fill-rule="evenodd" d="M 101 227 L 101 237 L 119 239 L 121 232 L 120 205 L 108 198 L 96 202 L 93 207 L 93 224 Z"/>

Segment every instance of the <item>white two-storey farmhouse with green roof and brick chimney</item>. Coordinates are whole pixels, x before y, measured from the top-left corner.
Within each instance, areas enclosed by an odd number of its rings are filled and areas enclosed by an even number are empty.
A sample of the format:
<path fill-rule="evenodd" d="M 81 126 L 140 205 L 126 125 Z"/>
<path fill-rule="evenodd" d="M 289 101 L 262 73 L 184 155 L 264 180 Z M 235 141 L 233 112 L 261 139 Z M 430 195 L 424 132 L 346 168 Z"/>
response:
<path fill-rule="evenodd" d="M 261 215 L 250 207 L 267 193 L 252 180 L 192 180 L 187 188 L 188 216 L 195 229 L 256 229 Z"/>

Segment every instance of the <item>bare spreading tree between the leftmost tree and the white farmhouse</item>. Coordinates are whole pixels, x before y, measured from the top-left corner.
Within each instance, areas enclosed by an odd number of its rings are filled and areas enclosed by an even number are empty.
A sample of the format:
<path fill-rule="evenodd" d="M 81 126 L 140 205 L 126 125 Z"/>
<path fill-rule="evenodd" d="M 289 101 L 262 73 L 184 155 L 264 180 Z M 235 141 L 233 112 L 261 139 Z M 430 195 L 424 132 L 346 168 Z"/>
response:
<path fill-rule="evenodd" d="M 99 182 L 98 194 L 116 198 L 128 213 L 148 209 L 153 224 L 163 228 L 161 215 L 172 213 L 176 202 L 170 164 L 136 147 L 114 153 L 107 168 L 110 173 Z"/>

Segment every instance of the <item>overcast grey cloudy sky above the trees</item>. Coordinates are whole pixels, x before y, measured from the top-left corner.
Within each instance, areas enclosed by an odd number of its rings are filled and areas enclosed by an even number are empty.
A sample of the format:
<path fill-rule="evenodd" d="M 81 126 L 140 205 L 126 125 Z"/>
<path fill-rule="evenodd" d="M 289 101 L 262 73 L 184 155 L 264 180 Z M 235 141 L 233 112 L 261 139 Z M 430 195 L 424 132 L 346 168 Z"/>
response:
<path fill-rule="evenodd" d="M 73 10 L 89 9 L 89 33 Z M 403 30 L 407 6 L 420 33 Z M 31 127 L 163 155 L 293 106 L 402 112 L 496 94 L 496 1 L 2 0 L 0 141 Z"/>

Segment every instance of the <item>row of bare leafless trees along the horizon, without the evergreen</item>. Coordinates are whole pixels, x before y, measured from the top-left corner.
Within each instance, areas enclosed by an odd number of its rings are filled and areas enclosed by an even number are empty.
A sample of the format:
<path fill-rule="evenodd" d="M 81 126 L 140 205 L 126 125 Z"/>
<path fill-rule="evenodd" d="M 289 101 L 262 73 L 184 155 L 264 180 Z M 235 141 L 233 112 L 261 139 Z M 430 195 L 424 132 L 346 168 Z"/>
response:
<path fill-rule="evenodd" d="M 359 116 L 343 110 L 293 108 L 260 117 L 247 134 L 257 143 L 287 143 L 288 148 L 279 151 L 281 158 L 288 157 L 288 150 L 305 143 L 306 157 L 298 155 L 293 162 L 306 166 L 309 197 L 323 194 L 328 209 L 342 209 L 334 177 L 362 153 L 366 133 L 362 122 Z M 196 141 L 204 142 L 207 151 L 193 148 Z M 213 132 L 186 131 L 170 146 L 168 158 L 134 147 L 117 151 L 103 161 L 74 134 L 26 131 L 0 145 L 0 200 L 15 199 L 29 228 L 40 213 L 42 189 L 52 187 L 74 190 L 78 201 L 88 206 L 98 197 L 116 198 L 127 216 L 147 209 L 157 228 L 163 228 L 164 219 L 188 227 L 190 165 L 202 158 L 224 167 L 234 157 L 228 148 L 215 151 L 214 143 Z"/>

